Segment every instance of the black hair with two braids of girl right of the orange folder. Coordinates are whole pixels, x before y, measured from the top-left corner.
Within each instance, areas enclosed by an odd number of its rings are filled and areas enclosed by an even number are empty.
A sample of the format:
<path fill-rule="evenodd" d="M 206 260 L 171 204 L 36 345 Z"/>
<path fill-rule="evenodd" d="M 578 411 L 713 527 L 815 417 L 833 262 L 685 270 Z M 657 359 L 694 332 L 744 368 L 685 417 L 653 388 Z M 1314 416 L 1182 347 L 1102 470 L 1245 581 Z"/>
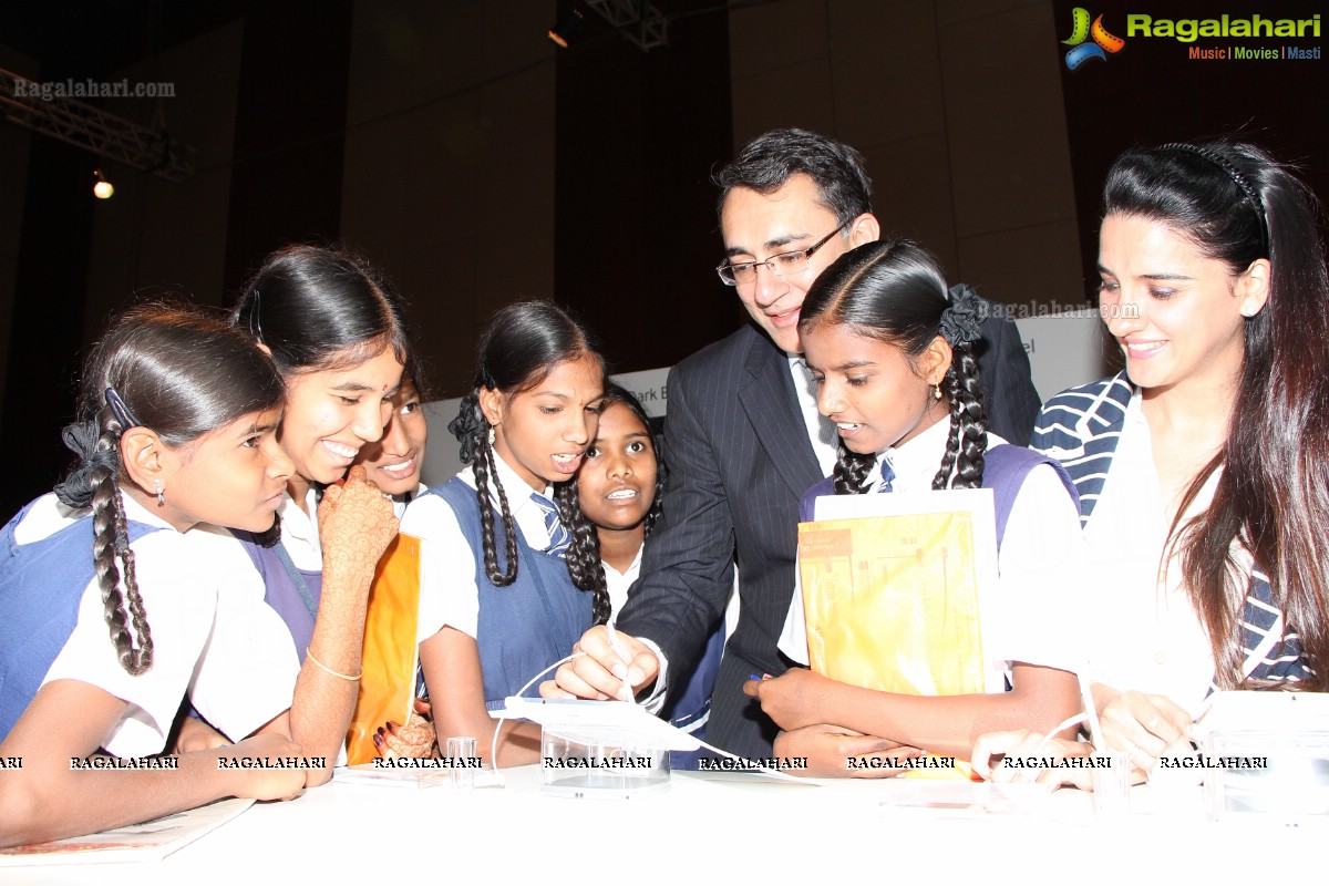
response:
<path fill-rule="evenodd" d="M 591 345 L 590 335 L 565 311 L 549 302 L 518 302 L 496 312 L 480 333 L 476 345 L 474 389 L 461 400 L 457 417 L 448 424 L 448 430 L 461 444 L 461 461 L 472 466 L 476 474 L 476 499 L 480 502 L 480 534 L 484 543 L 485 575 L 496 587 L 506 587 L 517 579 L 517 527 L 508 506 L 508 493 L 494 469 L 494 453 L 489 445 L 492 425 L 480 408 L 480 391 L 501 391 L 509 397 L 530 391 L 554 371 L 560 363 L 591 357 L 603 371 L 603 359 Z M 498 563 L 498 550 L 494 541 L 494 517 L 490 503 L 489 484 L 493 482 L 498 498 L 498 511 L 504 526 L 504 561 Z M 560 484 L 556 495 L 558 513 L 563 526 L 571 534 L 567 550 L 567 571 L 581 590 L 595 591 L 594 611 L 607 612 L 609 595 L 603 588 L 587 586 L 587 579 L 579 574 L 579 565 L 586 561 L 586 546 L 590 543 L 585 529 L 581 506 L 575 491 L 567 493 L 570 482 Z"/>

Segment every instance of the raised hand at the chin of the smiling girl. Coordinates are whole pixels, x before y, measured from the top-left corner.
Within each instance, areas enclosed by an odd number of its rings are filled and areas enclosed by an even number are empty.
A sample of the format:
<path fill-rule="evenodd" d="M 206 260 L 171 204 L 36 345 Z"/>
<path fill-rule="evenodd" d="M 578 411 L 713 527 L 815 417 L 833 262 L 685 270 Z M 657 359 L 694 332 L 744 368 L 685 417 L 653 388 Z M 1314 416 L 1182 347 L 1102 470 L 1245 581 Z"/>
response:
<path fill-rule="evenodd" d="M 328 486 L 319 502 L 319 542 L 324 571 L 368 571 L 397 537 L 392 502 L 355 465 L 342 486 Z M 365 586 L 365 592 L 368 587 Z"/>

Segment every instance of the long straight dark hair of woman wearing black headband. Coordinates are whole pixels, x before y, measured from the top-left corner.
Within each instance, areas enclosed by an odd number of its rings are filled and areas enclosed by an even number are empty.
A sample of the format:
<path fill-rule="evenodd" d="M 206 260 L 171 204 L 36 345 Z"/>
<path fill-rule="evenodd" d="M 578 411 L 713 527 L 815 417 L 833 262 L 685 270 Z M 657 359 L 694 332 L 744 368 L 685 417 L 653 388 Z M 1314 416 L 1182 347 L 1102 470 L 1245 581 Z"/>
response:
<path fill-rule="evenodd" d="M 1126 151 L 1107 175 L 1103 213 L 1166 224 L 1233 276 L 1269 259 L 1264 310 L 1245 320 L 1227 442 L 1187 489 L 1166 550 L 1181 553 L 1220 687 L 1244 683 L 1249 576 L 1239 575 L 1233 561 L 1236 539 L 1269 575 L 1288 630 L 1300 634 L 1316 672 L 1314 688 L 1322 689 L 1329 679 L 1329 275 L 1318 201 L 1261 149 L 1216 141 Z M 1180 526 L 1180 514 L 1220 466 L 1212 503 Z"/>

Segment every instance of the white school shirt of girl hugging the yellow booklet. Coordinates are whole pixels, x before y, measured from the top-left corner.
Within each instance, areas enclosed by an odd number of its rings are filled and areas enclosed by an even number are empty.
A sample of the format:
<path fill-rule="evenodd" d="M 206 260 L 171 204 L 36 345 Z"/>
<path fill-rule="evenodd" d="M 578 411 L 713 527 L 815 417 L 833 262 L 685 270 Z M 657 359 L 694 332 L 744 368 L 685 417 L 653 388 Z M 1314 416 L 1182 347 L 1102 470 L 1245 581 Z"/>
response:
<path fill-rule="evenodd" d="M 869 494 L 881 487 L 881 462 L 890 461 L 896 477 L 892 491 L 932 489 L 946 452 L 950 421 L 942 418 L 900 448 L 877 456 Z M 989 449 L 1006 441 L 987 434 Z M 1006 534 L 997 554 L 999 579 L 993 599 L 983 599 L 982 643 L 987 683 L 999 685 L 1010 677 L 1013 662 L 1076 671 L 1083 664 L 1079 631 L 1086 595 L 1067 580 L 1083 573 L 1084 541 L 1079 511 L 1066 486 L 1049 465 L 1038 465 L 1025 477 L 1006 521 Z M 808 663 L 807 620 L 803 590 L 795 571 L 793 599 L 780 634 L 780 651 Z"/>

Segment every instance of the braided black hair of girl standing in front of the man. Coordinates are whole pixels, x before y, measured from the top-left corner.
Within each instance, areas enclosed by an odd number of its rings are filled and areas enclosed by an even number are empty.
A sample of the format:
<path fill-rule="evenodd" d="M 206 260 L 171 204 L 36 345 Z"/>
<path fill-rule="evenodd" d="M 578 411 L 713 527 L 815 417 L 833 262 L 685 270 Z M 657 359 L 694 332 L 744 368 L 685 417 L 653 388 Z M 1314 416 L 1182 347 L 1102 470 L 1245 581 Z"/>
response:
<path fill-rule="evenodd" d="M 820 325 L 847 325 L 900 348 L 913 361 L 944 333 L 942 320 L 952 310 L 946 280 L 926 250 L 909 240 L 876 240 L 849 250 L 821 272 L 803 300 L 799 331 L 807 335 Z M 950 368 L 941 383 L 950 399 L 950 436 L 932 487 L 975 489 L 983 482 L 987 414 L 973 347 L 952 337 L 946 336 Z M 867 491 L 874 461 L 873 453 L 855 453 L 841 442 L 835 465 L 836 494 Z"/>

